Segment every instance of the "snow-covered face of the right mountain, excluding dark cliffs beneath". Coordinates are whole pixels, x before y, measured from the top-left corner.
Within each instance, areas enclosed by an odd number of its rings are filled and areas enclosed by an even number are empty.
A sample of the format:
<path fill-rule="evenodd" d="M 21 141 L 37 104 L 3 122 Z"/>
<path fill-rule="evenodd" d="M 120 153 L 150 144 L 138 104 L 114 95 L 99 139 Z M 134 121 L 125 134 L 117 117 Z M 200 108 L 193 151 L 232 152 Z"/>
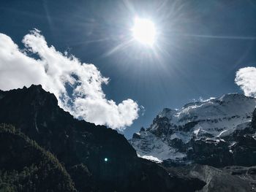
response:
<path fill-rule="evenodd" d="M 255 98 L 229 93 L 190 102 L 180 110 L 165 108 L 149 128 L 134 134 L 129 142 L 141 157 L 180 161 L 195 140 L 225 142 L 225 137 L 248 127 L 255 106 Z"/>

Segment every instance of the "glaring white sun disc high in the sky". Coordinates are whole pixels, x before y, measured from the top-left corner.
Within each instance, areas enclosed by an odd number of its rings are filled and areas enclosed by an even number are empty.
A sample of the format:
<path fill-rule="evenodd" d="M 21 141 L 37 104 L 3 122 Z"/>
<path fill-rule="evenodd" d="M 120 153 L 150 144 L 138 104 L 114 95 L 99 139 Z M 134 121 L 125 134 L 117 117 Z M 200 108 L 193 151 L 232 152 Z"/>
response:
<path fill-rule="evenodd" d="M 135 18 L 132 34 L 138 42 L 152 46 L 156 38 L 156 28 L 151 20 Z"/>

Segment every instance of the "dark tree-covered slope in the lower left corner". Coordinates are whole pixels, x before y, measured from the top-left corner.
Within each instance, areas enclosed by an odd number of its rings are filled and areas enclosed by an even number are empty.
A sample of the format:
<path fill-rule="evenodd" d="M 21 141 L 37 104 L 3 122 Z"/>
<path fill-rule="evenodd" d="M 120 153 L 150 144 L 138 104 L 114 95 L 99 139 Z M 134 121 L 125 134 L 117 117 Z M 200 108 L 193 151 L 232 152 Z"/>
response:
<path fill-rule="evenodd" d="M 0 191 L 76 191 L 53 154 L 13 126 L 0 124 Z"/>

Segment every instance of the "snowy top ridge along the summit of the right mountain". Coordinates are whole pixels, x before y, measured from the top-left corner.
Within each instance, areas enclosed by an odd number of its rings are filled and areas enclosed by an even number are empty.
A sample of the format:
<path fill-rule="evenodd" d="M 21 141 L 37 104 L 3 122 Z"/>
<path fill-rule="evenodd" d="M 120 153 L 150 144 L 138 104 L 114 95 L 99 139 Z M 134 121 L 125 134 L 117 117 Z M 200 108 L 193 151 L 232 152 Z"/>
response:
<path fill-rule="evenodd" d="M 168 118 L 170 123 L 184 125 L 194 120 L 219 119 L 225 116 L 248 116 L 255 109 L 256 99 L 239 93 L 229 93 L 217 99 L 195 101 L 185 104 L 181 110 L 165 108 L 159 118 Z"/>

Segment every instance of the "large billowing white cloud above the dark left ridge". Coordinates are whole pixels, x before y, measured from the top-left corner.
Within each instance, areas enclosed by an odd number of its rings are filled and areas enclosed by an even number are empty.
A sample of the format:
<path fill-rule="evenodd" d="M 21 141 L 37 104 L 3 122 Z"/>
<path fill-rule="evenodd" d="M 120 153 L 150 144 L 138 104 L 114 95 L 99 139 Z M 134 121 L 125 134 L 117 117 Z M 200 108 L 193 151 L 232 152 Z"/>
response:
<path fill-rule="evenodd" d="M 21 51 L 10 37 L 0 34 L 1 90 L 41 84 L 76 118 L 111 128 L 130 126 L 138 118 L 139 107 L 132 99 L 116 104 L 105 98 L 102 84 L 108 84 L 108 78 L 93 64 L 81 63 L 75 56 L 49 47 L 37 29 L 23 38 L 23 44 L 26 48 Z"/>

